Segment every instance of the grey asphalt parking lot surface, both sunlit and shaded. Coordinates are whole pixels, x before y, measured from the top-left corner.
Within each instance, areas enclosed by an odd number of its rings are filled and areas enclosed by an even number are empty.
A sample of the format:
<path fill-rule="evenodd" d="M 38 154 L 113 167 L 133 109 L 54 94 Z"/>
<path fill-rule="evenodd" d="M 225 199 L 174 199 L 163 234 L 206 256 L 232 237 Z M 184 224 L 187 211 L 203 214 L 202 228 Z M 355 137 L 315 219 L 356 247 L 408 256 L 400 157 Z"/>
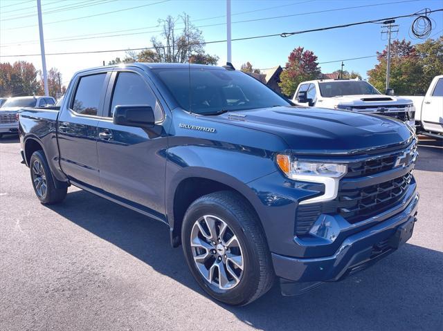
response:
<path fill-rule="evenodd" d="M 303 296 L 232 308 L 204 294 L 168 228 L 71 187 L 41 205 L 17 138 L 0 140 L 0 330 L 442 330 L 443 145 L 419 144 L 413 237 Z"/>

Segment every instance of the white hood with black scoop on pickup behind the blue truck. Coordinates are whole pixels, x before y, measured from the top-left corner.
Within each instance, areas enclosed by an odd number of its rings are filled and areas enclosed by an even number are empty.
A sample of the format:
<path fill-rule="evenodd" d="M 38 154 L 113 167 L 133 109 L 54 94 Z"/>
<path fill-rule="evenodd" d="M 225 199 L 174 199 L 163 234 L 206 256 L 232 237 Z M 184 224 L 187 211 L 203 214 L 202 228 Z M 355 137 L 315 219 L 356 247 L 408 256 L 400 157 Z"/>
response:
<path fill-rule="evenodd" d="M 345 106 L 384 106 L 397 104 L 412 104 L 412 100 L 394 95 L 341 95 L 327 97 L 327 100 L 336 100 L 337 104 Z"/>

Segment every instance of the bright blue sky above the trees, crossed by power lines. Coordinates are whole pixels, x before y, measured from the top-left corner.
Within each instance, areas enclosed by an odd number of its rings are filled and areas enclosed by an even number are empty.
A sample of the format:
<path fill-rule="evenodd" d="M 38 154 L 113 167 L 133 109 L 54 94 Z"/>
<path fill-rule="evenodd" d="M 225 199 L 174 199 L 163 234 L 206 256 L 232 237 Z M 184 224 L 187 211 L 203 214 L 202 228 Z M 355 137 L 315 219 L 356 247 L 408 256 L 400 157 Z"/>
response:
<path fill-rule="evenodd" d="M 155 28 L 158 19 L 168 15 L 176 17 L 186 12 L 195 26 L 201 26 L 206 41 L 226 39 L 226 1 L 224 0 L 42 0 L 44 37 L 46 53 L 75 52 L 86 50 L 109 50 L 141 48 L 150 45 L 150 38 L 159 35 Z M 343 23 L 380 19 L 398 15 L 407 15 L 424 8 L 443 8 L 442 0 L 232 0 L 232 37 L 251 37 L 270 35 L 280 32 L 292 32 L 334 26 Z M 396 3 L 394 3 L 396 2 Z M 95 6 L 83 7 L 86 5 Z M 151 6 L 145 6 L 152 4 Z M 69 10 L 62 10 L 72 6 Z M 347 10 L 339 8 L 368 6 Z M 128 9 L 136 6 L 140 8 Z M 255 12 L 250 12 L 255 10 Z M 318 12 L 334 10 L 329 12 Z M 107 15 L 104 12 L 117 11 Z M 247 13 L 243 13 L 247 12 Z M 317 12 L 313 14 L 303 14 Z M 301 14 L 301 15 L 300 15 Z M 18 16 L 25 16 L 18 18 Z M 78 19 L 78 17 L 98 15 Z M 292 16 L 291 16 L 292 15 Z M 287 16 L 287 17 L 281 17 Z M 213 18 L 219 17 L 219 18 Z M 269 19 L 270 17 L 280 17 Z M 443 35 L 443 12 L 431 16 L 435 25 L 431 35 L 434 38 Z M 247 21 L 261 19 L 260 21 Z M 68 21 L 69 20 L 69 21 Z M 60 21 L 60 22 L 56 22 Z M 235 23 L 238 22 L 238 23 Z M 413 19 L 398 19 L 399 39 L 406 38 L 413 44 L 421 42 L 410 38 L 410 25 Z M 41 58 L 32 57 L 3 57 L 5 55 L 38 54 L 38 27 L 36 0 L 1 0 L 0 1 L 0 61 L 15 62 L 26 60 L 41 68 Z M 211 26 L 208 26 L 211 25 Z M 25 27 L 28 26 L 28 27 Z M 118 30 L 138 29 L 127 32 Z M 109 33 L 105 33 L 109 32 Z M 105 35 L 129 34 L 118 37 L 102 37 Z M 318 62 L 331 62 L 352 57 L 375 55 L 382 50 L 386 40 L 381 38 L 380 24 L 367 24 L 350 28 L 335 29 L 323 32 L 311 32 L 287 38 L 268 37 L 246 41 L 233 41 L 233 64 L 239 67 L 249 61 L 257 68 L 269 68 L 278 64 L 284 65 L 287 56 L 298 46 L 313 50 L 318 56 Z M 102 33 L 102 35 L 94 35 Z M 89 35 L 89 36 L 84 36 Z M 79 37 L 73 37 L 79 36 Z M 54 42 L 51 39 L 72 37 L 78 39 L 94 37 L 93 39 L 70 40 Z M 206 52 L 218 55 L 219 64 L 226 62 L 226 44 L 208 44 Z M 48 68 L 58 68 L 63 81 L 69 82 L 71 75 L 82 68 L 99 66 L 115 57 L 124 57 L 124 52 L 100 53 L 87 55 L 48 55 Z M 377 59 L 359 59 L 345 61 L 346 70 L 356 70 L 363 77 L 366 71 L 377 63 Z M 340 68 L 340 62 L 320 64 L 323 73 L 329 73 Z"/>

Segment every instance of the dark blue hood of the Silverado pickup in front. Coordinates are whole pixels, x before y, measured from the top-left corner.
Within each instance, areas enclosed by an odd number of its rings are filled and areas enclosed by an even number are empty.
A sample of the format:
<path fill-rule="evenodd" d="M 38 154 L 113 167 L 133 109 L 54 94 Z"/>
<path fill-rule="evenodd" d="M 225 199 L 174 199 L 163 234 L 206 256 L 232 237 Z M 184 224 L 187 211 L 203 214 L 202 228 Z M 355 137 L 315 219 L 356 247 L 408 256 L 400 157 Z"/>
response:
<path fill-rule="evenodd" d="M 296 153 L 364 153 L 412 136 L 397 120 L 323 108 L 260 108 L 205 118 L 278 135 Z"/>

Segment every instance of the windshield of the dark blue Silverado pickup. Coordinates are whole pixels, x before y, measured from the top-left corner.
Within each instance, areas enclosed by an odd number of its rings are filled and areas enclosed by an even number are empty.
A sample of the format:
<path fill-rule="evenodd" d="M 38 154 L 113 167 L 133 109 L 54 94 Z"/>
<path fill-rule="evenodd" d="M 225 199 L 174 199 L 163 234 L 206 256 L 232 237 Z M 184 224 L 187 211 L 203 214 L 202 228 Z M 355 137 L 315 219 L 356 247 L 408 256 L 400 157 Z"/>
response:
<path fill-rule="evenodd" d="M 272 106 L 290 106 L 270 88 L 234 70 L 165 68 L 154 73 L 181 108 L 201 115 Z M 191 87 L 190 87 L 191 86 Z"/>

